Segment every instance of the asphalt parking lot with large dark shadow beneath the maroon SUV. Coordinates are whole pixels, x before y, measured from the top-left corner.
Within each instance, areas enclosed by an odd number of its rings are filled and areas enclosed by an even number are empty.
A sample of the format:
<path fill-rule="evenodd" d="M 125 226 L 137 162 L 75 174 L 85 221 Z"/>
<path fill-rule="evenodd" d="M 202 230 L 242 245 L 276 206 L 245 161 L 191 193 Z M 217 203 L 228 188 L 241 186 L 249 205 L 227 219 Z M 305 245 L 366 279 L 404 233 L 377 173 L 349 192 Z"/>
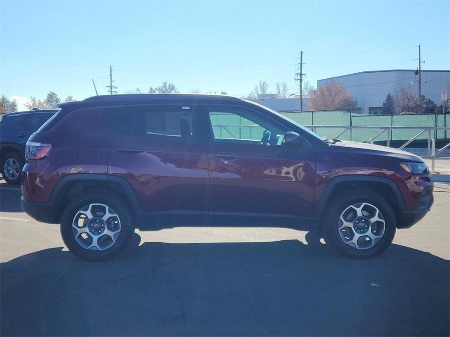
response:
<path fill-rule="evenodd" d="M 90 263 L 0 180 L 0 335 L 449 336 L 450 185 L 434 195 L 371 260 L 295 230 L 180 227 Z"/>

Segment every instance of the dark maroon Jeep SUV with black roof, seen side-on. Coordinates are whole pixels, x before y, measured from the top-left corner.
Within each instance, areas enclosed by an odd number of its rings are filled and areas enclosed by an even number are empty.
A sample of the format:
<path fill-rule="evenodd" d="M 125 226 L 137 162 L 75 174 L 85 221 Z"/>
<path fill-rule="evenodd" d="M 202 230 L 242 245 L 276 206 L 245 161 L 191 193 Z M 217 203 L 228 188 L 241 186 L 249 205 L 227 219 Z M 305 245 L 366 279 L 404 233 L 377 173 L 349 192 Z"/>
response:
<path fill-rule="evenodd" d="M 60 104 L 26 147 L 22 208 L 60 223 L 89 260 L 135 229 L 317 230 L 338 251 L 383 252 L 430 209 L 420 157 L 323 139 L 261 105 L 214 95 L 114 95 Z"/>

